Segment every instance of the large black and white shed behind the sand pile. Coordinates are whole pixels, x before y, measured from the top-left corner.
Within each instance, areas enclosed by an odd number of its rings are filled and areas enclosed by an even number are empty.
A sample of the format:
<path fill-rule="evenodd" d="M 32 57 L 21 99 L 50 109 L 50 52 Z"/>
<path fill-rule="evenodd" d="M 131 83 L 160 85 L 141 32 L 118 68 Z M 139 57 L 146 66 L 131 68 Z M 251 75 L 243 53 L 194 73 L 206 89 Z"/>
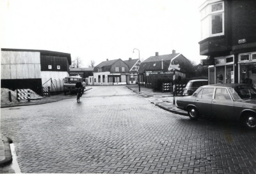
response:
<path fill-rule="evenodd" d="M 40 94 L 42 86 L 50 86 L 52 91 L 62 91 L 69 65 L 68 53 L 1 48 L 1 88 L 29 88 Z"/>

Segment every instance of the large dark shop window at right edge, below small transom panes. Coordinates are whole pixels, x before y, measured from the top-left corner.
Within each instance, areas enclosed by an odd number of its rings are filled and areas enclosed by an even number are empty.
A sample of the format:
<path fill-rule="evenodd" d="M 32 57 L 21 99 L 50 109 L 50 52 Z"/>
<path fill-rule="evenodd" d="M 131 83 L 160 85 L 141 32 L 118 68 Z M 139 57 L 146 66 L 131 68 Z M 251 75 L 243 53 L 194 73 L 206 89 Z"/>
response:
<path fill-rule="evenodd" d="M 239 67 L 240 83 L 253 84 L 256 87 L 256 64 L 255 63 L 243 63 Z"/>

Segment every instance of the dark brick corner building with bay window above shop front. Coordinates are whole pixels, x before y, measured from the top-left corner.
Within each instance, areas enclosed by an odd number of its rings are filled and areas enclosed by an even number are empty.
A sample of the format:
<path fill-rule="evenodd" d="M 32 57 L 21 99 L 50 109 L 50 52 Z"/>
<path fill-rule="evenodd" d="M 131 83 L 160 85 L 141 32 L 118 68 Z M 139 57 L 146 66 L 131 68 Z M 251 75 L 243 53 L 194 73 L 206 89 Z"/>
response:
<path fill-rule="evenodd" d="M 256 87 L 256 1 L 205 0 L 200 55 L 209 84 L 250 83 Z"/>

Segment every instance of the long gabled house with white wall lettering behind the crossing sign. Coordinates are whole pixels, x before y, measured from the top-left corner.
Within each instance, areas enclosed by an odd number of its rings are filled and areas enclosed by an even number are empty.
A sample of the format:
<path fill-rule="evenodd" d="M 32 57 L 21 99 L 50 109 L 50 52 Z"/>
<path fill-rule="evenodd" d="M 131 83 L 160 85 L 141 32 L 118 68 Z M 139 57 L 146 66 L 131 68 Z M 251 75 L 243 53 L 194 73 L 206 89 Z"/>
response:
<path fill-rule="evenodd" d="M 173 70 L 168 70 L 170 64 L 179 64 L 180 70 L 176 70 L 176 79 L 185 78 L 187 66 L 191 62 L 182 54 L 176 53 L 172 50 L 172 54 L 151 56 L 145 61 L 140 63 L 139 75 L 140 82 L 150 84 L 156 78 L 171 78 L 173 76 Z M 180 77 L 179 77 L 180 76 Z"/>

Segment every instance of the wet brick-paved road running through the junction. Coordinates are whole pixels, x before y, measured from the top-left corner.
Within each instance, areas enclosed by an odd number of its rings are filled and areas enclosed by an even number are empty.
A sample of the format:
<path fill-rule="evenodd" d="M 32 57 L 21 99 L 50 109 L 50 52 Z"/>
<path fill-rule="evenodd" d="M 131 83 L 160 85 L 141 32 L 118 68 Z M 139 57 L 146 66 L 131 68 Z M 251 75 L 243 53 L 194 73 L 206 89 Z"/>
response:
<path fill-rule="evenodd" d="M 255 131 L 189 120 L 124 86 L 1 108 L 1 132 L 25 173 L 256 173 Z"/>

